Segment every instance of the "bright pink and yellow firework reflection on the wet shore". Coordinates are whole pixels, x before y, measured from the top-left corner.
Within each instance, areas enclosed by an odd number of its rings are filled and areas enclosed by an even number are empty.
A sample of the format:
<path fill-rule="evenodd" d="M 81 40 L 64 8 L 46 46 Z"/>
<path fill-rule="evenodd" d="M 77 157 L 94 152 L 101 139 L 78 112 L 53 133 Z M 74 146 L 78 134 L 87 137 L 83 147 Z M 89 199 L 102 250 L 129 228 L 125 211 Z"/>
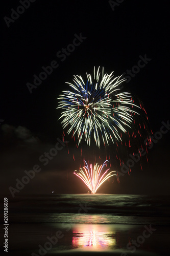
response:
<path fill-rule="evenodd" d="M 115 244 L 115 232 L 108 225 L 76 225 L 72 229 L 73 248 L 107 249 Z"/>

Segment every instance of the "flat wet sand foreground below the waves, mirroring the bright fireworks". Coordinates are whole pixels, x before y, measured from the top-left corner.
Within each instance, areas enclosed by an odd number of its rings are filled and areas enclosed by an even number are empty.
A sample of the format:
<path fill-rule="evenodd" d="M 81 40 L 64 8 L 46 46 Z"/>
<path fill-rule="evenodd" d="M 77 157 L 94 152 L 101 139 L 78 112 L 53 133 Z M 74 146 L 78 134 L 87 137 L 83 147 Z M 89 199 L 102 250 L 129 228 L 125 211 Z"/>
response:
<path fill-rule="evenodd" d="M 154 229 L 142 241 L 143 225 L 11 223 L 9 255 L 168 255 L 168 227 Z"/>

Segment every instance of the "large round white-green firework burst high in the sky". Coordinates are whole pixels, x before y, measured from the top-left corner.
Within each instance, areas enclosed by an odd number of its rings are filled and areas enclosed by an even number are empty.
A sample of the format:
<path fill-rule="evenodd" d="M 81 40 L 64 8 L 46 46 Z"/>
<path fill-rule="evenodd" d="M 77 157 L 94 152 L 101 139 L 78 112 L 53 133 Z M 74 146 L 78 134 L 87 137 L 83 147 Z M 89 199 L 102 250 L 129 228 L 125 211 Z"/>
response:
<path fill-rule="evenodd" d="M 114 140 L 122 140 L 120 132 L 126 133 L 134 120 L 134 101 L 128 92 L 120 92 L 119 84 L 126 79 L 122 76 L 113 77 L 111 74 L 100 73 L 100 67 L 93 78 L 86 73 L 86 80 L 74 76 L 69 83 L 70 91 L 63 91 L 58 98 L 58 109 L 62 109 L 61 119 L 63 129 L 67 134 L 77 136 L 78 145 L 82 138 L 90 146 L 91 139 L 100 147 Z M 139 108 L 139 107 L 138 107 Z M 59 119 L 60 119 L 59 118 Z"/>

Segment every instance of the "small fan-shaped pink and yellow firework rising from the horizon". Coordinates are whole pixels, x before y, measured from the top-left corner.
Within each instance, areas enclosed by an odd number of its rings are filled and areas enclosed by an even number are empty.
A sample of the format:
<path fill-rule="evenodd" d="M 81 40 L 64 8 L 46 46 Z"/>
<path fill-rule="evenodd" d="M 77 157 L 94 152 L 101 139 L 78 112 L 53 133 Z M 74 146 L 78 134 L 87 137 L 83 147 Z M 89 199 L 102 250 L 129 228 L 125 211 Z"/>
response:
<path fill-rule="evenodd" d="M 112 172 L 108 172 L 109 169 L 107 169 L 103 174 L 102 174 L 102 170 L 103 167 L 105 165 L 107 165 L 106 162 L 108 162 L 108 160 L 106 160 L 103 165 L 98 165 L 98 163 L 96 163 L 94 165 L 94 168 L 92 169 L 92 164 L 90 164 L 90 170 L 89 167 L 87 165 L 87 162 L 85 162 L 85 166 L 82 168 L 80 168 L 79 172 L 80 173 L 76 173 L 77 170 L 75 170 L 74 174 L 77 175 L 85 184 L 86 186 L 91 190 L 92 194 L 96 193 L 96 190 L 110 177 L 116 175 L 116 172 L 113 170 Z"/>

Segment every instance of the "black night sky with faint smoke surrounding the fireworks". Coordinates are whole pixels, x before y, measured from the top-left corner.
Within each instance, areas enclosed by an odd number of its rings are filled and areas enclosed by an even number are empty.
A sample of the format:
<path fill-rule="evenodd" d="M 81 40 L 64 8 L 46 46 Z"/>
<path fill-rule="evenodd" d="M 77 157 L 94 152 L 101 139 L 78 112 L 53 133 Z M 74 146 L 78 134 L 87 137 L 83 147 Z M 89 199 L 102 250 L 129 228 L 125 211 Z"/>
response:
<path fill-rule="evenodd" d="M 67 89 L 65 82 L 71 81 L 74 74 L 84 76 L 92 73 L 94 66 L 101 66 L 107 73 L 114 71 L 119 76 L 145 56 L 148 63 L 124 87 L 143 102 L 153 134 L 159 132 L 161 122 L 169 120 L 168 1 L 125 0 L 115 6 L 99 0 L 26 2 L 23 5 L 27 9 L 18 8 L 19 1 L 9 0 L 1 8 L 2 193 L 9 194 L 9 187 L 16 187 L 16 179 L 36 164 L 41 171 L 15 195 L 53 190 L 86 193 L 86 186 L 73 175 L 83 164 L 74 143 L 68 144 L 70 154 L 65 146 L 46 166 L 39 161 L 57 138 L 62 138 L 57 97 Z M 61 55 L 62 48 L 80 36 L 81 44 L 77 39 L 78 46 L 73 50 L 70 46 L 71 52 Z M 57 68 L 30 93 L 27 83 L 33 84 L 34 75 L 39 76 L 42 66 L 50 66 L 54 60 Z M 136 163 L 130 176 L 120 177 L 120 184 L 114 179 L 114 184 L 107 183 L 99 192 L 169 194 L 168 142 L 169 131 L 154 143 L 149 163 L 141 159 L 142 171 L 140 163 Z M 114 145 L 110 150 L 114 152 Z M 93 154 L 91 148 L 85 151 Z M 75 161 L 71 154 L 75 154 Z"/>

